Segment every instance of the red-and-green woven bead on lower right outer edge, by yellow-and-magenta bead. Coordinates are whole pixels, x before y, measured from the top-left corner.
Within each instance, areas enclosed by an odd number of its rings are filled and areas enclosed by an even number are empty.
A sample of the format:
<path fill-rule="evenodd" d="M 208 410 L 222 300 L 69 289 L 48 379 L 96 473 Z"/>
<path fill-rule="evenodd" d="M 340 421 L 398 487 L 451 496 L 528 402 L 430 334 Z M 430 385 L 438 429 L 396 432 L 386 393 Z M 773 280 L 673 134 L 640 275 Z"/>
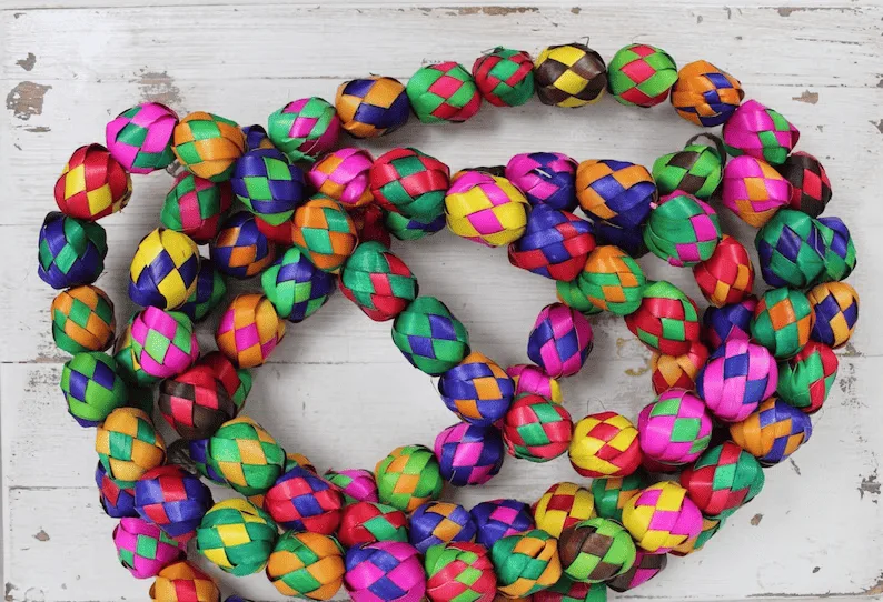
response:
<path fill-rule="evenodd" d="M 763 489 L 757 460 L 732 441 L 711 448 L 681 473 L 681 485 L 702 513 L 724 520 Z"/>

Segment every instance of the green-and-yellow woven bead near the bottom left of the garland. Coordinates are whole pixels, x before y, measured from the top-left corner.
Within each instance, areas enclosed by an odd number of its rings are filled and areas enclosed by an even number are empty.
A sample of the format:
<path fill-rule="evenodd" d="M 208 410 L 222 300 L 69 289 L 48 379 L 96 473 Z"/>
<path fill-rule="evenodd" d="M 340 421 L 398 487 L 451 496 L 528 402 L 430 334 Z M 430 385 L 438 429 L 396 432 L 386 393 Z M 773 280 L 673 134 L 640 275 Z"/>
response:
<path fill-rule="evenodd" d="M 221 571 L 244 576 L 264 569 L 277 536 L 278 528 L 269 514 L 250 502 L 230 499 L 202 516 L 196 549 Z"/>

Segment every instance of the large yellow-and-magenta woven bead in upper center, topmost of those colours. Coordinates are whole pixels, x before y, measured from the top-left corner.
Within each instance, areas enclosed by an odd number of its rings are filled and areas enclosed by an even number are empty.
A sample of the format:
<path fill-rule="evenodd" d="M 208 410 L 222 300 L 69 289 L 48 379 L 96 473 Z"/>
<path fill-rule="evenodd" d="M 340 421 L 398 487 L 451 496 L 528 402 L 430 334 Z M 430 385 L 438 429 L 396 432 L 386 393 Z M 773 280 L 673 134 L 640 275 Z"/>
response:
<path fill-rule="evenodd" d="M 483 171 L 460 171 L 445 195 L 452 232 L 487 247 L 518 240 L 527 225 L 529 204 L 505 178 Z"/>

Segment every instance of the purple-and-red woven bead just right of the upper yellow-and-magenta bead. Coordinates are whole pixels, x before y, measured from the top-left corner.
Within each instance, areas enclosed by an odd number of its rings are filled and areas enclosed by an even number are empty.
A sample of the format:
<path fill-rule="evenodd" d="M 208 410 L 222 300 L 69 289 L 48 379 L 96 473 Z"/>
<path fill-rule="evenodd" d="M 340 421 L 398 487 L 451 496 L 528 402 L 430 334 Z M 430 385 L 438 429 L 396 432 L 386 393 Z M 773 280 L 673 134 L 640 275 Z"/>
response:
<path fill-rule="evenodd" d="M 595 248 L 592 225 L 569 211 L 539 205 L 522 238 L 509 244 L 509 263 L 559 281 L 574 280 Z"/>

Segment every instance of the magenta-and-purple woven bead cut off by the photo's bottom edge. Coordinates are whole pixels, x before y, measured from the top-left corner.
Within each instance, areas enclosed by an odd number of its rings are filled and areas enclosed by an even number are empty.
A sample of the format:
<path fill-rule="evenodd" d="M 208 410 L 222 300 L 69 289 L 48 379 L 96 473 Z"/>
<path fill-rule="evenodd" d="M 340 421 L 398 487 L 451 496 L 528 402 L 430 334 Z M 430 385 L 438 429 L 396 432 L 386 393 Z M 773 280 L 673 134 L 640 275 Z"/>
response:
<path fill-rule="evenodd" d="M 420 553 L 400 541 L 350 548 L 344 586 L 353 602 L 420 602 L 426 593 Z"/>

